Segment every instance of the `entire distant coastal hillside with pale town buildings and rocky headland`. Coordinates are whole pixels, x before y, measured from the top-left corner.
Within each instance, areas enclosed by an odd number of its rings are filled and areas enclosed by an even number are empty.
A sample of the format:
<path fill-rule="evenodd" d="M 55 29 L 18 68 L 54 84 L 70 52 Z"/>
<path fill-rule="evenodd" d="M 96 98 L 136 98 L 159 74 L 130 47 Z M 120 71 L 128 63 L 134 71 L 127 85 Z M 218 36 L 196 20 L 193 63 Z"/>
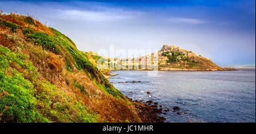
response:
<path fill-rule="evenodd" d="M 181 49 L 173 45 L 163 45 L 162 49 L 151 55 L 142 57 L 119 59 L 98 56 L 97 53 L 87 52 L 92 57 L 91 61 L 97 66 L 97 61 L 102 58 L 109 70 L 192 70 L 192 71 L 222 71 L 236 70 L 234 68 L 221 68 L 209 58 L 196 55 L 192 51 Z"/>

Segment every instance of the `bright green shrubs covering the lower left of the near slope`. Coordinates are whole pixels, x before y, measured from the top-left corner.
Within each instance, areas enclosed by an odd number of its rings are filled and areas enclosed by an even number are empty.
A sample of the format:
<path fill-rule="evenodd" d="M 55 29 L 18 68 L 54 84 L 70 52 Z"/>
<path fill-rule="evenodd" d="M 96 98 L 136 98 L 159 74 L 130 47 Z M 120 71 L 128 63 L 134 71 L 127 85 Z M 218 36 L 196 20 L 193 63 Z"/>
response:
<path fill-rule="evenodd" d="M 27 57 L 0 47 L 0 122 L 97 122 L 97 113 L 49 82 L 37 81 Z M 15 68 L 23 68 L 24 73 Z M 31 81 L 24 78 L 26 73 Z"/>

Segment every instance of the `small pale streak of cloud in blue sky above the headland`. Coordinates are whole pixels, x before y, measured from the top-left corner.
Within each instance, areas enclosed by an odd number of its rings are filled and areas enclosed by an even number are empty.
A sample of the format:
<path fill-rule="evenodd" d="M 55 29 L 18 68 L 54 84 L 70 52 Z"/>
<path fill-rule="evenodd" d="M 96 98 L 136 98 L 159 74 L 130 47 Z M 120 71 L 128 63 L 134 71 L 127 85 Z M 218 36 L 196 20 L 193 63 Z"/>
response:
<path fill-rule="evenodd" d="M 205 24 L 207 21 L 202 19 L 191 19 L 191 18 L 170 18 L 169 22 L 174 23 L 187 23 L 187 24 Z"/>

